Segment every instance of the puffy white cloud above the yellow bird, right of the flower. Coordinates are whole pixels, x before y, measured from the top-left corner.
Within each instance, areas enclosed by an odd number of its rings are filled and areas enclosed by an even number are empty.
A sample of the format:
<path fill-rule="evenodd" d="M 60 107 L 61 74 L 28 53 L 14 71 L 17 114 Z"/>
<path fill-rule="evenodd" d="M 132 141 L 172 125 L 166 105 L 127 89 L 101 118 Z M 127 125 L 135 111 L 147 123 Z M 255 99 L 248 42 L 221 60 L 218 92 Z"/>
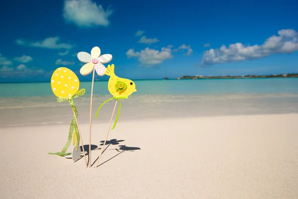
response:
<path fill-rule="evenodd" d="M 140 52 L 135 52 L 134 49 L 129 49 L 126 52 L 126 55 L 128 58 L 138 58 L 138 60 L 147 67 L 160 64 L 166 59 L 173 58 L 171 49 L 165 47 L 161 48 L 161 51 L 150 49 L 149 47 L 145 48 L 145 50 L 141 50 Z"/>

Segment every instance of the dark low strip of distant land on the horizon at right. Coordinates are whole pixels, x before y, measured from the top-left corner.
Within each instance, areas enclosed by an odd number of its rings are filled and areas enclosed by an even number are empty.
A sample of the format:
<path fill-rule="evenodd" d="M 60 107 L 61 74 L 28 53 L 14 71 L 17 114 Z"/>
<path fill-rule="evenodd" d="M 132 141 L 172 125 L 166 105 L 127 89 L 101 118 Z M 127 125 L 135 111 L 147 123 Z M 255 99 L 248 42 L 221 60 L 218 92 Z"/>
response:
<path fill-rule="evenodd" d="M 249 78 L 298 78 L 297 73 L 291 74 L 280 74 L 280 75 L 243 75 L 243 76 L 183 76 L 181 78 L 177 78 L 178 80 L 185 79 L 249 79 Z"/>

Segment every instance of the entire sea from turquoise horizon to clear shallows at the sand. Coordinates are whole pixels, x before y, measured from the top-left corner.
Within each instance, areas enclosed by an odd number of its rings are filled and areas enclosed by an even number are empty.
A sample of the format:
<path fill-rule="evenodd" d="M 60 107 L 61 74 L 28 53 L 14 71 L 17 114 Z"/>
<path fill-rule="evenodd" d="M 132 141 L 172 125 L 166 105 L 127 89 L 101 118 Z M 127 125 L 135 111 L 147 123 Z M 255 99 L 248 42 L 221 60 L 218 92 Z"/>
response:
<path fill-rule="evenodd" d="M 298 112 L 298 78 L 134 81 L 137 92 L 122 100 L 121 120 Z M 108 82 L 94 82 L 92 115 L 111 97 Z M 91 82 L 76 98 L 80 122 L 89 121 Z M 111 115 L 110 101 L 99 120 Z M 58 103 L 49 83 L 0 84 L 0 126 L 69 122 L 68 102 Z"/>

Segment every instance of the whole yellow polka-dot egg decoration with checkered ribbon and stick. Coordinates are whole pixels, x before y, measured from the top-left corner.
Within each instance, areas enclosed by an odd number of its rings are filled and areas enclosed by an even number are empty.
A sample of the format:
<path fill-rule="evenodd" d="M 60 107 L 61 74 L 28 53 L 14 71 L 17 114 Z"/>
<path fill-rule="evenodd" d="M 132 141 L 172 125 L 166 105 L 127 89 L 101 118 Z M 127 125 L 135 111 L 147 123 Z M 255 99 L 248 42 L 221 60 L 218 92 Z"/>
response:
<path fill-rule="evenodd" d="M 86 91 L 85 89 L 79 90 L 79 80 L 77 76 L 74 74 L 73 71 L 65 67 L 60 67 L 54 71 L 51 78 L 51 88 L 54 95 L 58 97 L 57 99 L 58 102 L 69 101 L 69 103 L 72 105 L 72 108 L 73 108 L 74 117 L 71 122 L 68 141 L 64 146 L 64 148 L 62 149 L 62 151 L 57 153 L 48 153 L 48 154 L 59 155 L 61 157 L 66 157 L 66 158 L 72 158 L 74 161 L 76 161 L 79 159 L 81 154 L 80 147 L 79 147 L 79 141 L 81 141 L 84 158 L 85 158 L 85 164 L 87 168 L 87 161 L 86 161 L 86 156 L 84 151 L 83 140 L 82 140 L 81 133 L 76 119 L 78 116 L 78 113 L 73 100 L 74 98 L 83 96 L 86 93 Z M 69 156 L 70 153 L 66 154 L 66 150 L 69 148 L 72 138 L 73 138 L 74 147 L 73 147 L 71 156 Z"/>

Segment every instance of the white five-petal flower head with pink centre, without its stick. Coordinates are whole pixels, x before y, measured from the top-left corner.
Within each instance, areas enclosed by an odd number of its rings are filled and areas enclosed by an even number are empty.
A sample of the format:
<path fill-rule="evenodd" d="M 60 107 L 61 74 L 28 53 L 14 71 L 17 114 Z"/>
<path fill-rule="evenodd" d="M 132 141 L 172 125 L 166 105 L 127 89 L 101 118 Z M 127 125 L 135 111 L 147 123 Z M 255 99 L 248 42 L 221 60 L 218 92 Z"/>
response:
<path fill-rule="evenodd" d="M 111 54 L 104 54 L 100 56 L 100 48 L 95 46 L 91 49 L 91 55 L 86 52 L 77 53 L 77 58 L 83 63 L 87 63 L 79 70 L 81 75 L 89 75 L 92 73 L 94 67 L 99 76 L 104 76 L 105 66 L 103 64 L 112 60 Z M 100 56 L 100 57 L 99 57 Z"/>

